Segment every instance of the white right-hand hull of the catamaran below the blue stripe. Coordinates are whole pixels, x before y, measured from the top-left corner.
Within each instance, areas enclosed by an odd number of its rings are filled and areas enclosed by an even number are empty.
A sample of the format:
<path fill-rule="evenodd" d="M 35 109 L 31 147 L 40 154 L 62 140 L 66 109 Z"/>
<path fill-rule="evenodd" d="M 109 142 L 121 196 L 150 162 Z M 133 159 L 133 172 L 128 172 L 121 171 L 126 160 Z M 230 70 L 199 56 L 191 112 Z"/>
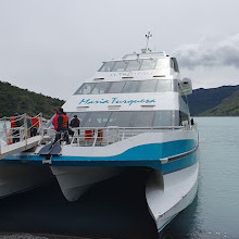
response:
<path fill-rule="evenodd" d="M 155 177 L 149 181 L 146 196 L 159 231 L 193 201 L 198 189 L 198 169 L 197 163 L 162 176 L 162 181 L 156 181 Z"/>

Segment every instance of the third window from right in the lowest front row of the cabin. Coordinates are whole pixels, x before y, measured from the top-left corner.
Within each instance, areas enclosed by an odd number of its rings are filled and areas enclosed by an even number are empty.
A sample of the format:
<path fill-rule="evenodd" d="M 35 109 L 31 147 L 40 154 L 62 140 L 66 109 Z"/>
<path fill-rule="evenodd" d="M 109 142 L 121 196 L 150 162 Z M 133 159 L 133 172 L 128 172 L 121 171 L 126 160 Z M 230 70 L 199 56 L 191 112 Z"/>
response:
<path fill-rule="evenodd" d="M 129 127 L 134 112 L 113 112 L 106 126 Z"/>

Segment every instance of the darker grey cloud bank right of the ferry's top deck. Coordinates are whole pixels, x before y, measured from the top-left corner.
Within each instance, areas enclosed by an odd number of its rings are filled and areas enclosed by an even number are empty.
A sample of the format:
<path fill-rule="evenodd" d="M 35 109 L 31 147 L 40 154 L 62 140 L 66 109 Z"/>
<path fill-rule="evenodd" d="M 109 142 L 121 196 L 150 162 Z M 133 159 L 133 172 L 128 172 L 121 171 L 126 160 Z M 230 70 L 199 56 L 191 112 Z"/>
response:
<path fill-rule="evenodd" d="M 203 39 L 197 45 L 184 45 L 173 54 L 178 59 L 181 67 L 190 70 L 197 66 L 235 66 L 239 68 L 239 34 L 216 43 Z"/>

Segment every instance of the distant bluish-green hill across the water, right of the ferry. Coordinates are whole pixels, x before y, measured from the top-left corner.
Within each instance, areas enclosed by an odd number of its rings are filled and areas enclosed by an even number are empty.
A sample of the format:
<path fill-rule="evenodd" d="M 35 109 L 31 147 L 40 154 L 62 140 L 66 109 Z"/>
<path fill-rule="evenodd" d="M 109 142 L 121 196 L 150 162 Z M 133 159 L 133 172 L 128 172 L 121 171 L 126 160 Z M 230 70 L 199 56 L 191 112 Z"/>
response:
<path fill-rule="evenodd" d="M 194 116 L 239 116 L 239 86 L 196 89 L 188 103 Z"/>

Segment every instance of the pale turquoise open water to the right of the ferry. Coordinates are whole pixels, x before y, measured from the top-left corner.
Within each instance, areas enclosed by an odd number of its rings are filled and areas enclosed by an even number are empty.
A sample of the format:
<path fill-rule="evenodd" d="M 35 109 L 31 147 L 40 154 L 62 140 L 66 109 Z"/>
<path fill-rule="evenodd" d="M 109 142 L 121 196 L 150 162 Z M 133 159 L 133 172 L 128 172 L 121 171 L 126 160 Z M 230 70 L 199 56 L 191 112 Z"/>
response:
<path fill-rule="evenodd" d="M 199 191 L 165 238 L 239 238 L 239 117 L 198 117 Z"/>

